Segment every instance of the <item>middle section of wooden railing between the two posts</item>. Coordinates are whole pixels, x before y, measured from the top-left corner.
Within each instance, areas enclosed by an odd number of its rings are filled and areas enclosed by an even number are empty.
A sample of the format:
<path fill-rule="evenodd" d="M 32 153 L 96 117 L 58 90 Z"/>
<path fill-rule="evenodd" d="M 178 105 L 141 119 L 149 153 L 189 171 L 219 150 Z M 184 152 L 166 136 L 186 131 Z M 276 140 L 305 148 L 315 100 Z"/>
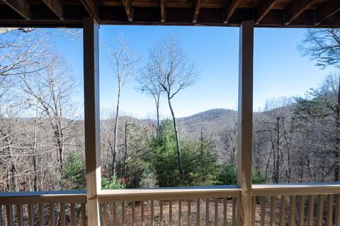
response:
<path fill-rule="evenodd" d="M 103 190 L 103 225 L 236 225 L 238 186 Z"/>

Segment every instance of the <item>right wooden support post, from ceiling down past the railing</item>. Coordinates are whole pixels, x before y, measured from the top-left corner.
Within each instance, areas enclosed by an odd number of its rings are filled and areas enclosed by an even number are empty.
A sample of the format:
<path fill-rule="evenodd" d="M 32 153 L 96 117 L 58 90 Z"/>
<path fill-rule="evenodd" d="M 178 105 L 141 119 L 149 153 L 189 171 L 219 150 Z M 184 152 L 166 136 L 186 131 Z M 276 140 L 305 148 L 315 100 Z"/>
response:
<path fill-rule="evenodd" d="M 239 29 L 239 109 L 237 141 L 237 225 L 251 225 L 251 146 L 253 131 L 254 21 Z"/>

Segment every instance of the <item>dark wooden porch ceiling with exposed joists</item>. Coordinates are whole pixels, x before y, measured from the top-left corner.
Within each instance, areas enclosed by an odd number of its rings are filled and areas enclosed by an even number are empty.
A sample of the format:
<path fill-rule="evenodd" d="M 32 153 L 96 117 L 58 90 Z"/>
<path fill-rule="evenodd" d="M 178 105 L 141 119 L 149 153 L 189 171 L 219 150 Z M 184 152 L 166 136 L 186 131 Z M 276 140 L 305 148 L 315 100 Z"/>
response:
<path fill-rule="evenodd" d="M 0 0 L 1 26 L 101 24 L 340 28 L 340 0 Z"/>

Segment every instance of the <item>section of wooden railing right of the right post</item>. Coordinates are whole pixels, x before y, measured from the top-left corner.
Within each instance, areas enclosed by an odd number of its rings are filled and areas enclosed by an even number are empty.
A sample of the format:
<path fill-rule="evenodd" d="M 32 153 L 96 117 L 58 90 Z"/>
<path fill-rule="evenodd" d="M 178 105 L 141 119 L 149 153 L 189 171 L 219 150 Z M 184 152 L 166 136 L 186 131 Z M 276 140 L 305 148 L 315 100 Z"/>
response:
<path fill-rule="evenodd" d="M 256 184 L 253 225 L 340 226 L 340 184 Z"/>

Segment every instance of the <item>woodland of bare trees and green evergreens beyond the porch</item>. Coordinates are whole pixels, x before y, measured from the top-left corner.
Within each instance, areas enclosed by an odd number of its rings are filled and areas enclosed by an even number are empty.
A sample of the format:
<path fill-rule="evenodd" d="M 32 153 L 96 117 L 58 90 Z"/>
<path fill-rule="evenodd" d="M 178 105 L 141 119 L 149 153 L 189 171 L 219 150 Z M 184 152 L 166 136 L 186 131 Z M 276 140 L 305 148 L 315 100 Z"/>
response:
<path fill-rule="evenodd" d="M 80 84 L 44 30 L 3 29 L 0 36 L 1 191 L 84 189 Z M 300 52 L 338 68 L 339 40 L 336 29 L 307 30 Z M 153 44 L 144 64 L 123 38 L 103 48 L 118 85 L 115 109 L 101 120 L 103 189 L 236 184 L 236 117 L 198 136 L 179 126 L 174 97 L 200 76 L 179 38 Z M 120 115 L 132 79 L 153 98 L 157 119 Z M 305 96 L 269 100 L 254 113 L 254 183 L 339 182 L 339 88 L 334 73 Z M 159 117 L 163 100 L 171 119 Z"/>

